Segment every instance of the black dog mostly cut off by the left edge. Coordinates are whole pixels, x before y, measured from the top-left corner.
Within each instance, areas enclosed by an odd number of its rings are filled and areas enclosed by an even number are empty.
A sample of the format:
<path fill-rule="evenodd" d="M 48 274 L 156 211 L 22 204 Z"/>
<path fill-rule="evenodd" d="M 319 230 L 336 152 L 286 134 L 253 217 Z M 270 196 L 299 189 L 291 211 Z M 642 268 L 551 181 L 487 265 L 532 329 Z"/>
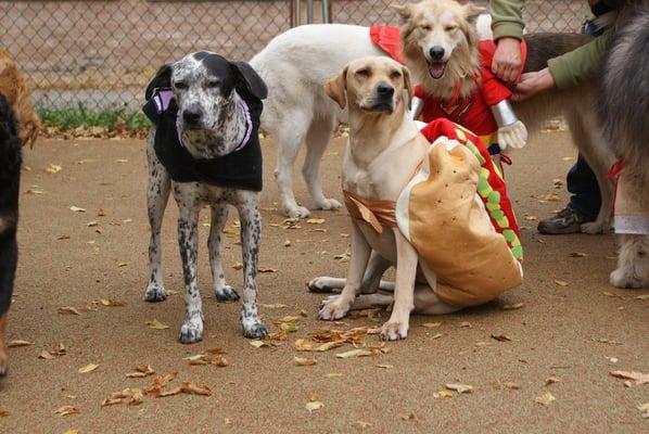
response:
<path fill-rule="evenodd" d="M 0 94 L 0 375 L 7 372 L 4 329 L 18 259 L 16 226 L 21 181 L 21 140 L 11 106 Z"/>

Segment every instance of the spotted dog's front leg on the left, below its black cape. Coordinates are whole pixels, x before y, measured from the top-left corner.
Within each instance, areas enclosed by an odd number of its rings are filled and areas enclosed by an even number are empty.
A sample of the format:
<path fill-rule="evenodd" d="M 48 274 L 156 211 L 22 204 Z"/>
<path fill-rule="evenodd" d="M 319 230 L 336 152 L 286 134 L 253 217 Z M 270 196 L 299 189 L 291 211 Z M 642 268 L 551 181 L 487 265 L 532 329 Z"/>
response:
<path fill-rule="evenodd" d="M 196 257 L 199 250 L 199 212 L 200 206 L 192 192 L 182 189 L 182 184 L 174 186 L 174 195 L 178 202 L 178 245 L 182 260 L 184 278 L 184 321 L 180 328 L 178 340 L 183 344 L 193 344 L 203 339 L 203 303 L 198 285 Z M 178 201 L 180 199 L 180 201 Z"/>

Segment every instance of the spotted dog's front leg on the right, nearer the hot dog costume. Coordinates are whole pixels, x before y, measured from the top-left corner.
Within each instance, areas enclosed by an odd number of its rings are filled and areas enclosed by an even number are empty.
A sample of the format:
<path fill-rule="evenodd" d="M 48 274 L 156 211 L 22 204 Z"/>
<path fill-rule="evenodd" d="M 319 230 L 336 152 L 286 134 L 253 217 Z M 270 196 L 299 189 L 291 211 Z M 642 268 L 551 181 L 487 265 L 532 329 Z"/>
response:
<path fill-rule="evenodd" d="M 243 306 L 241 326 L 243 335 L 252 339 L 266 337 L 268 331 L 257 311 L 257 263 L 262 241 L 262 216 L 257 193 L 246 192 L 237 204 L 241 219 L 241 250 L 243 255 Z"/>

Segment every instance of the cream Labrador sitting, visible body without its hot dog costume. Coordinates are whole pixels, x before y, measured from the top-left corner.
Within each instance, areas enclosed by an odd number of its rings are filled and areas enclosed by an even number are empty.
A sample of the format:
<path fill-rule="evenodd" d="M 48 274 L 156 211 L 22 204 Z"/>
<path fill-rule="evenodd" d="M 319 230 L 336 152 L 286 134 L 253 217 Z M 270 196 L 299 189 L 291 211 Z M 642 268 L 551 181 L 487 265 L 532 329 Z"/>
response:
<path fill-rule="evenodd" d="M 380 56 L 349 63 L 327 82 L 327 94 L 349 113 L 349 141 L 343 161 L 343 190 L 347 196 L 396 201 L 430 148 L 419 133 L 405 101 L 412 95 L 408 69 Z M 418 255 L 397 227 L 383 226 L 379 233 L 372 226 L 353 219 L 352 256 L 347 279 L 329 279 L 328 288 L 343 288 L 340 295 L 328 297 L 320 319 L 338 320 L 349 309 L 386 306 L 394 299 L 390 320 L 381 329 L 383 340 L 405 339 L 410 311 L 447 314 L 459 310 L 442 302 L 418 269 Z M 359 295 L 366 286 L 364 275 L 370 255 L 380 255 L 396 266 L 394 285 L 381 282 L 381 289 L 394 289 L 390 295 Z M 377 283 L 385 267 L 367 270 Z M 366 278 L 367 280 L 367 278 Z M 321 282 L 322 283 L 322 282 Z M 376 286 L 374 286 L 376 288 Z"/>

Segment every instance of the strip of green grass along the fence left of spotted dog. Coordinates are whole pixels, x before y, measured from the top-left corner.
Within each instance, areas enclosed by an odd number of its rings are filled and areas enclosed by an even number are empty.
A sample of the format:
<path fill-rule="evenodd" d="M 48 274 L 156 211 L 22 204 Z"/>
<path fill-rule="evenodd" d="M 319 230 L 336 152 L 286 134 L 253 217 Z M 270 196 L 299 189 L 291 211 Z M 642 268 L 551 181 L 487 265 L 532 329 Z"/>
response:
<path fill-rule="evenodd" d="M 114 130 L 144 130 L 151 122 L 140 110 L 124 107 L 88 108 L 82 104 L 63 108 L 37 107 L 44 127 L 59 131 L 69 131 L 76 128 L 103 127 L 107 131 Z"/>

